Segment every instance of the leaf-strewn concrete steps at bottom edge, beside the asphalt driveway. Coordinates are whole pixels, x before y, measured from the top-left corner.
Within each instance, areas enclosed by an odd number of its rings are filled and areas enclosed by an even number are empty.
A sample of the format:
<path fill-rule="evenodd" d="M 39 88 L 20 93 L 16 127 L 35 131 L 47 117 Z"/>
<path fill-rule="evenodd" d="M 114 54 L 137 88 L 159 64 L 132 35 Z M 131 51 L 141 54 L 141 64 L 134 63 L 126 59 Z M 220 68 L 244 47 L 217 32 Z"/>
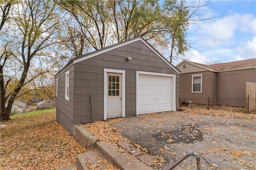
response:
<path fill-rule="evenodd" d="M 141 154 L 138 154 L 138 151 L 134 152 L 137 156 L 134 156 L 129 152 L 118 152 L 115 146 L 107 142 L 97 142 L 96 150 L 88 151 L 76 156 L 78 170 L 88 170 L 88 166 L 101 168 L 102 170 L 106 169 L 106 164 L 101 163 L 103 161 L 100 160 L 107 160 L 120 170 L 152 170 L 146 162 L 151 162 L 153 164 L 155 160 L 152 156 L 143 154 L 143 152 L 141 152 Z M 134 148 L 131 148 L 130 151 L 133 152 Z"/>

